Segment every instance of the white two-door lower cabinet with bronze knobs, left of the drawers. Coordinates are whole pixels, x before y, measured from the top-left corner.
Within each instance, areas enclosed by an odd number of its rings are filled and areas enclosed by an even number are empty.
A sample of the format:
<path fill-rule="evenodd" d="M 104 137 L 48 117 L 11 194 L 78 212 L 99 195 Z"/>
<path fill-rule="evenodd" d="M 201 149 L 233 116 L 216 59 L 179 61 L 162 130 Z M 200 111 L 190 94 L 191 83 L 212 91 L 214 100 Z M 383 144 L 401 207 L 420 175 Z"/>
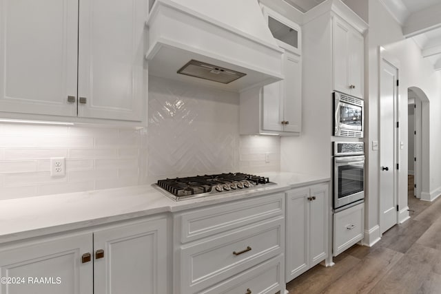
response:
<path fill-rule="evenodd" d="M 166 218 L 0 246 L 0 293 L 169 293 L 167 253 Z"/>

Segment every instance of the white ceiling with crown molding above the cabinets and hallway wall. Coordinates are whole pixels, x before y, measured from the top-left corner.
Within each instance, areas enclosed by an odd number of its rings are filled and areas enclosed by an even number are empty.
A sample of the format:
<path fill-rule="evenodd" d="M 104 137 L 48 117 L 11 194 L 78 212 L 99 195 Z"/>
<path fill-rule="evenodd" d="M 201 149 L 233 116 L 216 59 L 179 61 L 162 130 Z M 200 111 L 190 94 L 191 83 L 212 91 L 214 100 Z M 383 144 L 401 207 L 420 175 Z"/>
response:
<path fill-rule="evenodd" d="M 301 12 L 307 12 L 325 0 L 284 1 Z M 400 23 L 404 37 L 413 38 L 420 46 L 422 56 L 433 63 L 435 70 L 441 70 L 441 0 L 380 0 L 380 2 Z"/>

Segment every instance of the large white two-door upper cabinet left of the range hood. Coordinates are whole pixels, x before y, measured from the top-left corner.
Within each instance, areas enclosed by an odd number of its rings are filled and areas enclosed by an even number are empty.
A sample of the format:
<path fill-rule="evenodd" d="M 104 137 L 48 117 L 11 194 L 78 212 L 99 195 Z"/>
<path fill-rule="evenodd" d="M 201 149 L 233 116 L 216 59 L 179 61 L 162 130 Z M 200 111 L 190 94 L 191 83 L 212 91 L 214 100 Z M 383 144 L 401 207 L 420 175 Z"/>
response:
<path fill-rule="evenodd" d="M 147 14 L 148 0 L 0 0 L 0 111 L 142 121 Z"/>

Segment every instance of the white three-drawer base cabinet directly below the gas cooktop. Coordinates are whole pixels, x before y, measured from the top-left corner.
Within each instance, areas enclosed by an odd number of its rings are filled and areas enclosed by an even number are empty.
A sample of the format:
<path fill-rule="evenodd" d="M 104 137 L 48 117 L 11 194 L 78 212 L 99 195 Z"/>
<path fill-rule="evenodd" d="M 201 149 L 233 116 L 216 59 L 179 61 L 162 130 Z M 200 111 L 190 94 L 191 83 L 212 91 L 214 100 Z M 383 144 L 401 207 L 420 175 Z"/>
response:
<path fill-rule="evenodd" d="M 174 293 L 284 291 L 284 209 L 278 193 L 175 215 Z"/>

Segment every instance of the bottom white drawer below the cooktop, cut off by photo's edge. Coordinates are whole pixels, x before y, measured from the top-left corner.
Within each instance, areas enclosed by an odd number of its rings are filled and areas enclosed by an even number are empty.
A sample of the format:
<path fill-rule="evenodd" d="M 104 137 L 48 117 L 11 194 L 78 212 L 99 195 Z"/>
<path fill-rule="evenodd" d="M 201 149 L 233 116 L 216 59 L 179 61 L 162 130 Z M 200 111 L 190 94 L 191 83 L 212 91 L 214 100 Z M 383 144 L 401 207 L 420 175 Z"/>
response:
<path fill-rule="evenodd" d="M 235 275 L 231 279 L 216 284 L 216 286 L 206 289 L 204 294 L 238 294 L 247 293 L 269 293 L 273 294 L 280 291 L 285 282 L 283 277 L 283 255 L 278 255 L 266 262 L 254 266 L 252 269 Z"/>

